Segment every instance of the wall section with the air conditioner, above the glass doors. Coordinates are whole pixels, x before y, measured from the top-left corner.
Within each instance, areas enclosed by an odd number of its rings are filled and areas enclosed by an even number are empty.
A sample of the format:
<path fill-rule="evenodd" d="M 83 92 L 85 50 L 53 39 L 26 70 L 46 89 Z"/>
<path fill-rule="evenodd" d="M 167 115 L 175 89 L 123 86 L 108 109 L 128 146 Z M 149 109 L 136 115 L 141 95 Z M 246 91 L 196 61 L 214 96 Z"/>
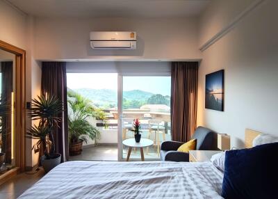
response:
<path fill-rule="evenodd" d="M 90 31 L 136 31 L 136 50 L 93 50 Z M 197 19 L 36 18 L 35 58 L 199 59 Z"/>

